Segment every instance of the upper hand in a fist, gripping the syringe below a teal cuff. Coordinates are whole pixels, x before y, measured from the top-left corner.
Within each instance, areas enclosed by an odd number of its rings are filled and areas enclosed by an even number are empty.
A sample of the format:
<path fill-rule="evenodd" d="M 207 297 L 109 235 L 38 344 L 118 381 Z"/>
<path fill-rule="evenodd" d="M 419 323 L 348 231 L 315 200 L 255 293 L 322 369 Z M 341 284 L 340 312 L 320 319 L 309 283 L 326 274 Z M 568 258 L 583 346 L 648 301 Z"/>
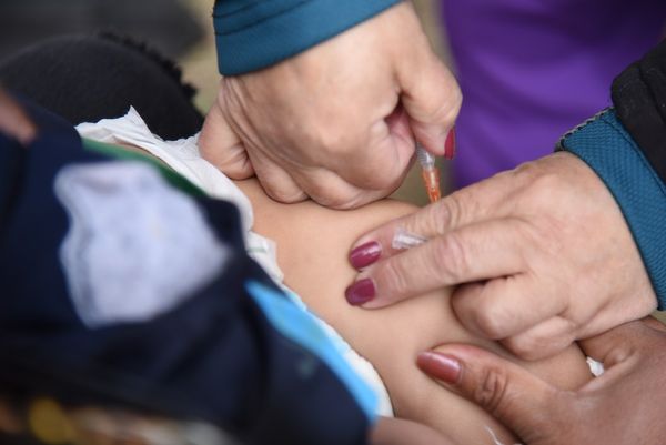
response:
<path fill-rule="evenodd" d="M 269 69 L 223 78 L 199 142 L 226 175 L 256 174 L 278 201 L 355 208 L 402 183 L 415 140 L 453 155 L 461 100 L 400 2 Z"/>

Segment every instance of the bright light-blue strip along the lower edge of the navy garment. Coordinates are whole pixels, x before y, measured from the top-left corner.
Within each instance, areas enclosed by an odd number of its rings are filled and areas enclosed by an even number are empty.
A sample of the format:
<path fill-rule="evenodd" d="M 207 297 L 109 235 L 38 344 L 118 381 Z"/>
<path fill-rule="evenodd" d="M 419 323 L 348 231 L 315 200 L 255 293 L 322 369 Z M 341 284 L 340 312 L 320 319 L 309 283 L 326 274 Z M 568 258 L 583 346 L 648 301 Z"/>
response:
<path fill-rule="evenodd" d="M 260 282 L 249 281 L 245 289 L 282 335 L 316 355 L 337 375 L 373 424 L 376 421 L 377 395 L 354 373 L 314 316 Z"/>

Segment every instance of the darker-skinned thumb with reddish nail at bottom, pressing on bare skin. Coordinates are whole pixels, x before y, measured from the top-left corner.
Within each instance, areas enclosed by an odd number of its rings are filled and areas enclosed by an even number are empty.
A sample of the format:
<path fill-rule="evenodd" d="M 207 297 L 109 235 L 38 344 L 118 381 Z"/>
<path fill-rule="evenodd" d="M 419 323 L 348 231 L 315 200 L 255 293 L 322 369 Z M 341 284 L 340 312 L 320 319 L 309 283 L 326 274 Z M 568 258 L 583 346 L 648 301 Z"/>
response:
<path fill-rule="evenodd" d="M 567 393 L 480 347 L 440 346 L 420 354 L 416 363 L 443 386 L 508 426 L 524 443 L 556 437 L 571 405 Z"/>

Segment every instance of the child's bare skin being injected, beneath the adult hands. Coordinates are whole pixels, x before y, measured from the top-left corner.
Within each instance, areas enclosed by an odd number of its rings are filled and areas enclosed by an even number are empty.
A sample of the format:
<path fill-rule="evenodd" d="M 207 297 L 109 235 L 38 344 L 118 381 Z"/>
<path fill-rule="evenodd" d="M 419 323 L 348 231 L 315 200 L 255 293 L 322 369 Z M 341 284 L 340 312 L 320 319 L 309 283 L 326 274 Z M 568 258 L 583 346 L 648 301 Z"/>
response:
<path fill-rule="evenodd" d="M 345 301 L 345 285 L 356 273 L 346 260 L 349 246 L 359 235 L 413 212 L 414 206 L 381 201 L 354 211 L 334 211 L 314 202 L 278 203 L 255 180 L 236 184 L 253 204 L 253 230 L 278 243 L 285 284 L 373 363 L 389 388 L 396 416 L 430 425 L 460 444 L 494 444 L 485 426 L 503 443 L 515 442 L 490 415 L 440 387 L 415 365 L 420 352 L 450 342 L 482 345 L 511 357 L 497 343 L 462 327 L 448 303 L 450 289 L 374 311 Z M 577 346 L 539 362 L 512 360 L 564 388 L 578 387 L 591 378 Z"/>

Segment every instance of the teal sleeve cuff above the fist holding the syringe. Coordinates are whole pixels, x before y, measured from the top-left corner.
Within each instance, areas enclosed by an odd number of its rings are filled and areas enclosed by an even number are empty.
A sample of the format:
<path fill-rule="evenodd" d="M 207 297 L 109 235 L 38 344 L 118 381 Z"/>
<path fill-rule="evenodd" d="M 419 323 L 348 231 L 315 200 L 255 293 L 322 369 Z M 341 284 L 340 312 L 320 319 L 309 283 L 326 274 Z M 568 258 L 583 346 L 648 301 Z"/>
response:
<path fill-rule="evenodd" d="M 401 0 L 218 0 L 213 11 L 223 75 L 275 64 Z"/>

